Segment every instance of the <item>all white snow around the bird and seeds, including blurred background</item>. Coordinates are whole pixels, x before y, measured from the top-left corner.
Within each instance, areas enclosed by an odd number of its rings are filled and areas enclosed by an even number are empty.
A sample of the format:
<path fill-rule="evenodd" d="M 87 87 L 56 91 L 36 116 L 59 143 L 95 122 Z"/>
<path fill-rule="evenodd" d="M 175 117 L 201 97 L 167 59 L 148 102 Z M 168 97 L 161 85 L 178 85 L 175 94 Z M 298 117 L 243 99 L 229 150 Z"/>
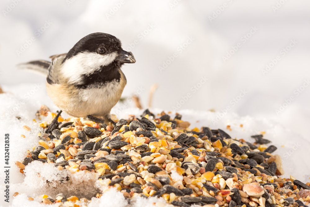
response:
<path fill-rule="evenodd" d="M 1 11 L 7 11 L 12 2 L 2 1 Z M 48 188 L 36 172 L 48 179 L 64 176 L 55 175 L 58 171 L 53 166 L 40 163 L 27 166 L 23 176 L 14 164 L 23 159 L 27 149 L 37 146 L 40 128 L 33 119 L 40 106 L 45 104 L 54 112 L 58 110 L 46 94 L 45 79 L 19 71 L 15 65 L 68 52 L 80 38 L 92 32 L 115 35 L 122 40 L 123 48 L 135 55 L 137 62 L 123 67 L 127 78 L 123 97 L 138 94 L 146 107 L 149 89 L 157 83 L 153 113 L 177 109 L 184 120 L 192 123 L 191 127 L 222 128 L 232 137 L 251 142 L 251 135 L 265 132 L 264 137 L 278 147 L 275 153 L 283 158 L 283 177 L 293 175 L 300 181 L 309 181 L 310 167 L 304 161 L 310 146 L 309 2 L 286 1 L 273 11 L 277 2 L 18 1 L 8 14 L 0 17 L 0 85 L 6 92 L 0 94 L 0 132 L 10 133 L 10 191 L 11 195 L 15 191 L 20 195 L 11 203 L 0 205 L 39 206 L 36 201 L 27 200 L 27 196 L 53 196 L 56 191 Z M 224 3 L 228 6 L 210 21 L 209 17 Z M 117 6 L 111 15 L 111 9 Z M 253 28 L 256 29 L 250 38 L 241 39 Z M 38 29 L 44 32 L 41 34 Z M 291 47 L 294 40 L 297 43 Z M 241 47 L 224 62 L 223 56 L 238 43 Z M 30 45 L 18 54 L 16 51 L 25 44 Z M 186 48 L 182 49 L 182 44 Z M 291 48 L 284 55 L 285 47 Z M 266 64 L 272 65 L 277 56 L 280 60 L 263 74 Z M 161 71 L 159 67 L 165 64 L 167 67 Z M 277 114 L 280 105 L 283 111 Z M 140 115 L 141 110 L 133 108 L 129 99 L 117 104 L 112 113 L 127 118 L 129 114 Z M 23 125 L 31 131 L 24 130 Z M 232 131 L 226 129 L 227 125 Z M 21 138 L 21 134 L 26 138 Z M 1 157 L 3 147 L 1 144 Z M 4 178 L 3 170 L 0 178 Z M 85 175 L 84 179 L 95 185 L 95 178 Z M 3 189 L 4 183 L 0 185 Z M 64 189 L 73 191 L 76 187 L 72 184 Z M 110 199 L 113 204 L 123 202 L 117 192 L 104 196 L 115 196 L 117 199 Z M 3 191 L 0 197 L 3 198 Z M 94 199 L 93 205 L 103 205 L 103 199 Z M 157 201 L 152 199 L 137 198 L 133 205 L 153 206 Z"/>

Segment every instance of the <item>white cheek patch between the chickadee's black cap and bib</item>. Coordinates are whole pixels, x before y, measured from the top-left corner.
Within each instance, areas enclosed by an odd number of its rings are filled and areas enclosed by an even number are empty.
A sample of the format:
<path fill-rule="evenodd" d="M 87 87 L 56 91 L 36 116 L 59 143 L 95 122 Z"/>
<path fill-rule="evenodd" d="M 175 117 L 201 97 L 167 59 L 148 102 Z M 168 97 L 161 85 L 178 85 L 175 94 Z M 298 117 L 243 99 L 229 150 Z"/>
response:
<path fill-rule="evenodd" d="M 69 83 L 79 83 L 82 81 L 83 75 L 92 74 L 101 66 L 109 65 L 116 57 L 116 52 L 107 55 L 94 52 L 78 53 L 65 61 L 61 72 L 64 78 L 69 80 Z"/>

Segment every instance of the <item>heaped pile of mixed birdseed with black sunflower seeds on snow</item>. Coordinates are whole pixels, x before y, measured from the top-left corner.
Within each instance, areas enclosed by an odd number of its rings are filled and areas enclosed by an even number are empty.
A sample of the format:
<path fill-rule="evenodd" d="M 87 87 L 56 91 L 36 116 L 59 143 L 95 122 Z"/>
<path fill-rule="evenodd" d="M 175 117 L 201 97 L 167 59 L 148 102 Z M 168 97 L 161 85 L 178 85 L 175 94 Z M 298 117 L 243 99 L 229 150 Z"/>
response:
<path fill-rule="evenodd" d="M 270 141 L 263 135 L 252 136 L 251 144 L 221 129 L 191 129 L 179 114 L 171 119 L 162 113 L 155 119 L 148 110 L 139 118 L 115 120 L 115 125 L 92 116 L 58 121 L 50 134 L 40 134 L 40 146 L 16 162 L 21 173 L 33 162 L 92 173 L 102 187 L 94 197 L 114 187 L 128 203 L 137 197 L 162 197 L 175 206 L 297 207 L 310 200 L 310 183 L 279 177 L 284 173 L 281 157 L 271 154 L 277 148 L 267 147 Z M 64 193 L 40 199 L 57 206 L 91 205 L 90 199 Z"/>

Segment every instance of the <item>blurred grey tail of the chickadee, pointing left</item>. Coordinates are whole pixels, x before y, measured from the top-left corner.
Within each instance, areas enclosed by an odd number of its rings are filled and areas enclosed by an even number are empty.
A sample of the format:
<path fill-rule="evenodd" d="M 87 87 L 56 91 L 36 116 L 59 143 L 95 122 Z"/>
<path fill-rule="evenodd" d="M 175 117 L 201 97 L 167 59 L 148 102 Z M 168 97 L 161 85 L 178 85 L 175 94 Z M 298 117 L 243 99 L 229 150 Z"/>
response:
<path fill-rule="evenodd" d="M 48 67 L 51 65 L 50 61 L 38 60 L 18 64 L 17 67 L 22 70 L 27 70 L 42 76 L 47 76 Z"/>

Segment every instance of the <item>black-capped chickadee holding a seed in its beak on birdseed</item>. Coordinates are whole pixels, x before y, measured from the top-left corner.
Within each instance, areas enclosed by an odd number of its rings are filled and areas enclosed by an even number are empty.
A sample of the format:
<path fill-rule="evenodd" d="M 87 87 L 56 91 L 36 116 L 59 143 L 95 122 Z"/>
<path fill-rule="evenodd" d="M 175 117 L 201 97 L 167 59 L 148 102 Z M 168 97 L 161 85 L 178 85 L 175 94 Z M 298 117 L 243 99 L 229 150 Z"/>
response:
<path fill-rule="evenodd" d="M 68 53 L 50 58 L 18 67 L 46 76 L 47 94 L 61 111 L 113 122 L 110 111 L 127 82 L 122 65 L 136 62 L 132 52 L 123 50 L 115 36 L 96 32 L 80 39 Z"/>

